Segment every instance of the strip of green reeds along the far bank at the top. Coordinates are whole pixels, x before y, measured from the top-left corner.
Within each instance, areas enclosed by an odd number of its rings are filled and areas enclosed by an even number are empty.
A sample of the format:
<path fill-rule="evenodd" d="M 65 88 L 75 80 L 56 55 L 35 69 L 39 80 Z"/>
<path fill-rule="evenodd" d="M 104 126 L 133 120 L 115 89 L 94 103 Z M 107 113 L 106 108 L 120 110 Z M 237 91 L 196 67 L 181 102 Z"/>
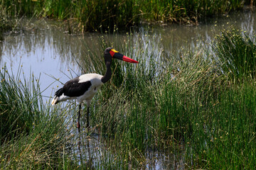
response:
<path fill-rule="evenodd" d="M 238 1 L 1 1 L 0 8 L 6 17 L 38 16 L 66 21 L 73 31 L 113 30 L 138 25 L 142 21 L 197 23 L 201 18 L 241 9 L 250 0 Z"/>

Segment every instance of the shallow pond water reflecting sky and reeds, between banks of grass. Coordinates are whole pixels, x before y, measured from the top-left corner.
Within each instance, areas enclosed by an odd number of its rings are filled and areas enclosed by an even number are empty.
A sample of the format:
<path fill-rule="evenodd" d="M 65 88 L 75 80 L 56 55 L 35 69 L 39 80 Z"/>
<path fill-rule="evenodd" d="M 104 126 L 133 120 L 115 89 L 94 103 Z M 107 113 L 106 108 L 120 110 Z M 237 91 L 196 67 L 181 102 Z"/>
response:
<path fill-rule="evenodd" d="M 25 77 L 33 74 L 40 77 L 41 91 L 48 101 L 55 89 L 61 86 L 70 77 L 82 74 L 79 67 L 79 59 L 86 51 L 85 42 L 90 49 L 99 49 L 99 33 L 86 33 L 85 35 L 68 35 L 61 29 L 55 28 L 48 21 L 36 21 L 24 23 L 24 29 L 18 32 L 4 34 L 4 40 L 0 42 L 0 66 L 12 70 L 14 74 L 22 68 Z M 199 43 L 210 42 L 220 30 L 224 28 L 241 28 L 252 33 L 256 28 L 255 13 L 250 10 L 233 12 L 228 15 L 199 23 L 198 26 L 187 25 L 149 25 L 134 29 L 133 38 L 139 33 L 145 41 L 150 40 L 154 45 L 155 40 L 161 39 L 161 47 L 169 54 L 175 54 L 181 47 L 193 50 Z M 113 37 L 110 34 L 107 36 Z M 119 33 L 118 38 L 125 40 L 126 33 Z M 143 39 L 143 40 L 144 40 Z M 159 43 L 159 41 L 157 41 Z M 100 51 L 97 51 L 100 52 Z M 132 57 L 132 56 L 129 56 Z M 55 79 L 59 79 L 56 81 Z M 97 137 L 96 137 L 97 138 Z M 102 144 L 98 140 L 90 140 L 90 144 L 81 144 L 75 149 L 80 157 L 92 157 L 92 164 L 97 166 L 97 154 Z M 81 149 L 84 148 L 84 149 Z M 95 150 L 96 149 L 96 150 Z M 80 151 L 79 151 L 80 150 Z M 146 152 L 146 169 L 183 169 L 182 158 L 175 158 L 175 154 L 164 152 Z"/>

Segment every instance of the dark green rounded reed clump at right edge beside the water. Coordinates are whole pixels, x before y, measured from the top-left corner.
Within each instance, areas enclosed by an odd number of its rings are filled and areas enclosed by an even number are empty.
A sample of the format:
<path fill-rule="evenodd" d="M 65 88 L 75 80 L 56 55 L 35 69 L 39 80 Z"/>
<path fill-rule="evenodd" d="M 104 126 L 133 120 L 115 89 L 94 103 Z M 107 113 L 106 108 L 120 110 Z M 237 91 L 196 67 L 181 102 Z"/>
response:
<path fill-rule="evenodd" d="M 234 28 L 224 30 L 215 37 L 213 51 L 218 69 L 228 75 L 230 81 L 255 79 L 255 34 Z"/>

